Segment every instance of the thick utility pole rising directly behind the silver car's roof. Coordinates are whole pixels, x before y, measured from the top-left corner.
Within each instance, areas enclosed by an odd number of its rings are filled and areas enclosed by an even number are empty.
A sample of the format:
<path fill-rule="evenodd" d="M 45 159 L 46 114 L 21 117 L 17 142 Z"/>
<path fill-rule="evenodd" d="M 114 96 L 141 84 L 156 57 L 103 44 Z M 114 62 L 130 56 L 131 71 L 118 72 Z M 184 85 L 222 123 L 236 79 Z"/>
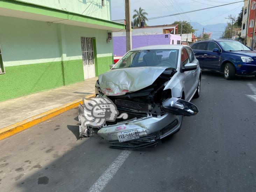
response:
<path fill-rule="evenodd" d="M 131 50 L 131 7 L 130 0 L 125 0 L 125 20 L 126 20 L 126 52 Z"/>

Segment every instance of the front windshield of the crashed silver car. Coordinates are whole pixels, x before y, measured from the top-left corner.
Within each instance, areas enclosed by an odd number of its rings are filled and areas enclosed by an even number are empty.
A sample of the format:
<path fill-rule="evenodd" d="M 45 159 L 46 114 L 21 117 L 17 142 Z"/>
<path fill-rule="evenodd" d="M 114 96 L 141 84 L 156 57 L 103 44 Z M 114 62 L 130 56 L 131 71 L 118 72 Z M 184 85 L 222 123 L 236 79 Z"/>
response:
<path fill-rule="evenodd" d="M 178 49 L 150 49 L 129 51 L 113 69 L 128 67 L 164 66 L 177 69 Z"/>

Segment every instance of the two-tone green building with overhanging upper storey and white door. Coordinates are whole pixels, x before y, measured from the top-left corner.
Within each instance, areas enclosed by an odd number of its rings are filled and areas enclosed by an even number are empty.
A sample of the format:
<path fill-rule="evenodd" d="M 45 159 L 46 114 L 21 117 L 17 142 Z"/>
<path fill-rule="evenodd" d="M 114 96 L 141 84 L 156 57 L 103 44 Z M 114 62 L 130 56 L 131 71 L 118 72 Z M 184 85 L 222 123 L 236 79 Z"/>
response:
<path fill-rule="evenodd" d="M 111 0 L 0 0 L 0 101 L 108 71 L 121 30 Z"/>

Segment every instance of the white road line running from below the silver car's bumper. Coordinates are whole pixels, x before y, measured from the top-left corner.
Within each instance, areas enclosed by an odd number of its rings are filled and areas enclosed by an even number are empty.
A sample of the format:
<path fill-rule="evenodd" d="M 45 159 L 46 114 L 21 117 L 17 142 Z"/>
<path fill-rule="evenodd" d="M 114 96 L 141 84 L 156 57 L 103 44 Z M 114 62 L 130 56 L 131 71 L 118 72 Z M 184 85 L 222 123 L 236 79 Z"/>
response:
<path fill-rule="evenodd" d="M 118 169 L 122 166 L 125 160 L 129 157 L 131 151 L 123 150 L 115 161 L 109 165 L 107 170 L 100 176 L 100 178 L 91 186 L 88 192 L 100 192 L 113 178 Z"/>

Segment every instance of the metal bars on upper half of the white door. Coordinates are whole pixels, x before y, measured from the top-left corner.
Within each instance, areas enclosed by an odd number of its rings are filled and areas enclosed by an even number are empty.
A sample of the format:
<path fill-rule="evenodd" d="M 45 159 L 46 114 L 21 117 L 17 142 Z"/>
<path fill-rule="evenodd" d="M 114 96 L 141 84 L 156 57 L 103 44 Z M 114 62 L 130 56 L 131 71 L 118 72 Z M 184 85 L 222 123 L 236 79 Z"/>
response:
<path fill-rule="evenodd" d="M 92 37 L 81 37 L 83 64 L 94 65 Z"/>

